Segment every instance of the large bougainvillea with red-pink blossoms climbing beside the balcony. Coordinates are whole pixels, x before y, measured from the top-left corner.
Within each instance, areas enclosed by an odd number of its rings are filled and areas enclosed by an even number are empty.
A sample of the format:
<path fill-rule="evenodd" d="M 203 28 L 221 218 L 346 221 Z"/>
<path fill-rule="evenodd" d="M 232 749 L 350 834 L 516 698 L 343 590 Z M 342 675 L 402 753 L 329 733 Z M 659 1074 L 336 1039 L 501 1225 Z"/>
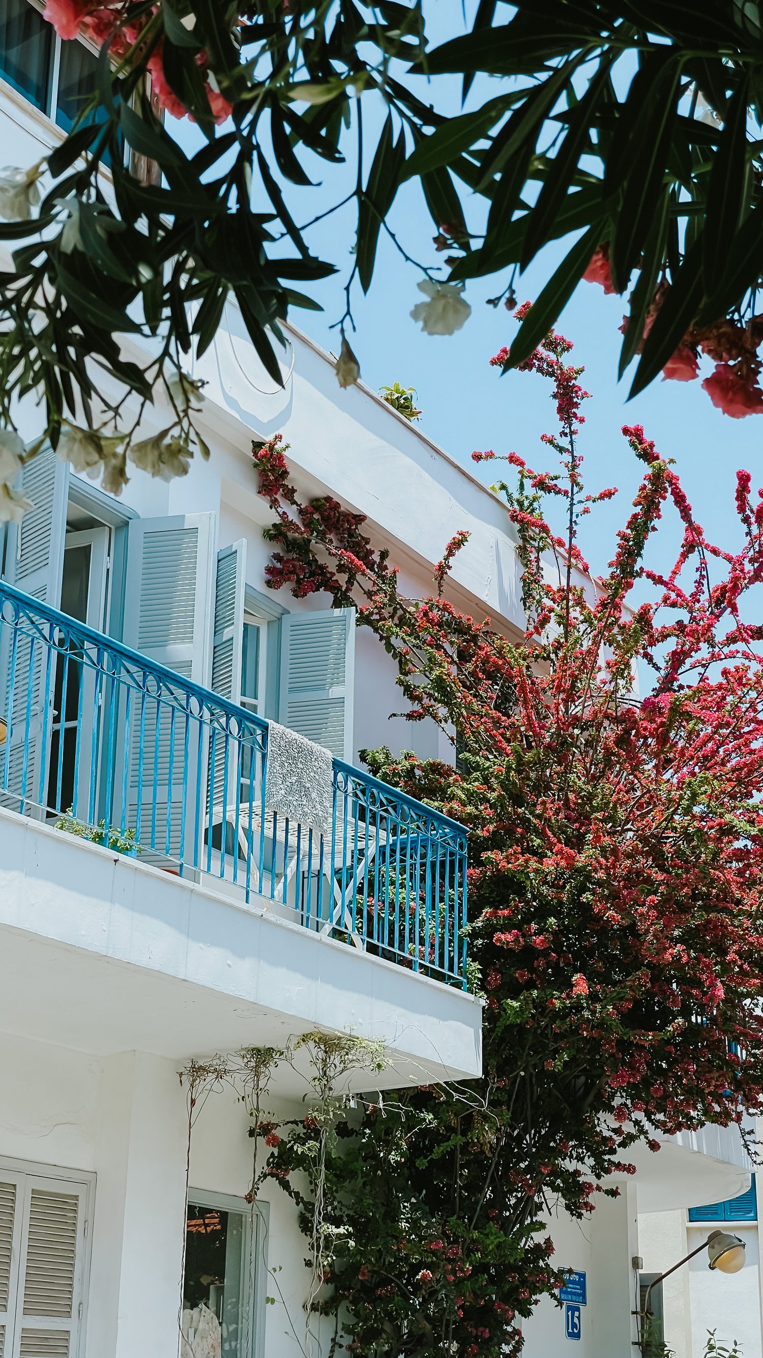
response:
<path fill-rule="evenodd" d="M 301 501 L 278 437 L 255 449 L 277 512 L 270 585 L 354 600 L 396 657 L 410 720 L 458 732 L 456 767 L 388 750 L 368 765 L 471 831 L 485 1076 L 367 1105 L 327 1167 L 339 1244 L 322 1305 L 368 1358 L 517 1353 L 517 1317 L 559 1281 L 550 1206 L 584 1217 L 633 1172 L 635 1141 L 658 1153 L 660 1133 L 741 1123 L 762 1101 L 763 627 L 745 617 L 763 492 L 751 498 L 739 473 L 741 546 L 715 547 L 677 474 L 626 428 L 644 478 L 595 580 L 578 528 L 614 492 L 584 492 L 570 348 L 548 334 L 523 363 L 551 383 L 544 441 L 561 470 L 512 452 L 498 488 L 523 570 L 520 642 L 448 602 L 464 534 L 433 596 L 403 598 L 362 519 Z M 648 549 L 668 509 L 682 543 L 663 573 Z M 281 1171 L 300 1165 L 303 1137 L 280 1143 Z"/>

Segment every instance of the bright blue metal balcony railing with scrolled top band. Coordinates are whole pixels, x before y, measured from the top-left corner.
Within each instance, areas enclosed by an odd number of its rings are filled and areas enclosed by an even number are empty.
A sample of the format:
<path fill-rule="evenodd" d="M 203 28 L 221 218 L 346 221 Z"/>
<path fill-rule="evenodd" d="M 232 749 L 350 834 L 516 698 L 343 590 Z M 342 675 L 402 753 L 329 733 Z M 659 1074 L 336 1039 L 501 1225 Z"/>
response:
<path fill-rule="evenodd" d="M 0 581 L 0 805 L 466 989 L 466 830 L 334 760 L 267 809 L 267 722 Z"/>

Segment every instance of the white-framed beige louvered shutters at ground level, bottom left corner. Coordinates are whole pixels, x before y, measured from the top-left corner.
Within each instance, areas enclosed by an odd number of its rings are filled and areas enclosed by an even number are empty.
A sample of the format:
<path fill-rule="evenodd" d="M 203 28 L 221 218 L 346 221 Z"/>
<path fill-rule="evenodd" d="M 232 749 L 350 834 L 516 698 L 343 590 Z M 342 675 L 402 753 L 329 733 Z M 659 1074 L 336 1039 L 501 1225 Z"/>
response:
<path fill-rule="evenodd" d="M 0 1358 L 77 1358 L 87 1194 L 0 1167 Z"/>

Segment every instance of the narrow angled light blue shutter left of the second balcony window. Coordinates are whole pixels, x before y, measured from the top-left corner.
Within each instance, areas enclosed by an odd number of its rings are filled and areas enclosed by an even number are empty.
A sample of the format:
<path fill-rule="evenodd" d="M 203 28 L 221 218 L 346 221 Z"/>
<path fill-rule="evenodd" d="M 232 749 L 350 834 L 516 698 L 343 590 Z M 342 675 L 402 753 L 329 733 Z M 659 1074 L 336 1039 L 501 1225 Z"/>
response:
<path fill-rule="evenodd" d="M 215 579 L 215 623 L 212 640 L 212 689 L 221 698 L 239 702 L 242 695 L 242 650 L 244 630 L 246 540 L 217 553 Z M 212 805 L 231 807 L 238 800 L 239 746 L 228 741 L 228 788 L 225 789 L 225 733 L 210 735 L 209 773 Z"/>

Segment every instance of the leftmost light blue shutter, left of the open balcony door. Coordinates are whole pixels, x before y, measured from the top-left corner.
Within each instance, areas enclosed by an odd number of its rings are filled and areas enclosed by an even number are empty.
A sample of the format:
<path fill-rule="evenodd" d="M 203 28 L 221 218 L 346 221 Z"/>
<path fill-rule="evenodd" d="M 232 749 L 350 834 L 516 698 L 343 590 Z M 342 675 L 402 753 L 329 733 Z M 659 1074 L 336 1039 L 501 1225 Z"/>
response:
<path fill-rule="evenodd" d="M 60 607 L 67 535 L 67 498 L 69 464 L 60 462 L 50 448 L 29 462 L 18 486 L 31 500 L 20 524 L 8 524 L 4 579 L 43 603 Z M 0 800 L 15 811 L 29 812 L 30 803 L 45 801 L 48 751 L 42 750 L 42 703 L 45 701 L 43 648 L 19 638 L 15 652 L 10 629 L 3 629 L 0 646 L 0 714 L 11 736 L 7 778 L 5 758 L 0 758 L 0 788 L 10 796 Z M 50 694 L 53 684 L 50 686 Z M 49 699 L 52 706 L 52 698 Z M 48 731 L 50 729 L 50 713 Z M 24 777 L 26 747 L 26 777 Z M 23 799 L 23 800 L 22 800 Z"/>

